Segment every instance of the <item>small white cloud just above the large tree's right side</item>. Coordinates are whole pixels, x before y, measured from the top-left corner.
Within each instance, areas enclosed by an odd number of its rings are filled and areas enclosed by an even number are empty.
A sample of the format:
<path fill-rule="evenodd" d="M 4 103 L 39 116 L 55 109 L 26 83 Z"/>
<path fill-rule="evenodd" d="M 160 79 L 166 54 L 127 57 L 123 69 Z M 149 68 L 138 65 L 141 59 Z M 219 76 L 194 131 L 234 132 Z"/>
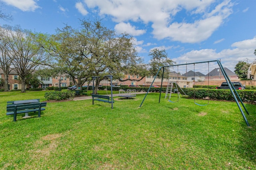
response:
<path fill-rule="evenodd" d="M 136 27 L 132 26 L 130 23 L 124 23 L 124 22 L 116 24 L 114 29 L 117 33 L 127 32 L 133 36 L 142 35 L 142 34 L 146 33 L 146 30 L 136 29 Z"/>

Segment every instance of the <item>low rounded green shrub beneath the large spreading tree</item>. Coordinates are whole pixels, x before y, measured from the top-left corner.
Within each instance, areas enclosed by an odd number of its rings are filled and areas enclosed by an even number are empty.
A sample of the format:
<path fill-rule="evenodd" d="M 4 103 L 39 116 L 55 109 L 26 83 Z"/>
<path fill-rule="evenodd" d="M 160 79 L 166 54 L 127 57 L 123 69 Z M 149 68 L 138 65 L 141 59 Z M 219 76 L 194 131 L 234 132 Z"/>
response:
<path fill-rule="evenodd" d="M 47 100 L 66 100 L 68 98 L 73 100 L 74 96 L 75 96 L 75 92 L 71 92 L 71 91 L 64 91 L 64 92 L 54 91 L 54 92 L 46 92 L 44 94 L 44 97 Z"/>

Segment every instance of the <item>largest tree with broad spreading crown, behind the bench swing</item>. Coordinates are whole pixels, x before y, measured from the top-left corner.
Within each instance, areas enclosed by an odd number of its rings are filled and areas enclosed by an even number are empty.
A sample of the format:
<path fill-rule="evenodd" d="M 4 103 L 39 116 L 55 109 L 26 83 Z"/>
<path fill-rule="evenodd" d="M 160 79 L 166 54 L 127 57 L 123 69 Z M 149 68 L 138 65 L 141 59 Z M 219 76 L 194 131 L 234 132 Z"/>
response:
<path fill-rule="evenodd" d="M 116 35 L 99 20 L 80 22 L 79 29 L 66 25 L 55 35 L 40 35 L 38 41 L 55 61 L 52 67 L 61 68 L 77 87 L 92 76 L 100 76 L 98 85 L 105 75 L 119 78 L 128 68 L 135 67 L 140 59 L 130 35 Z"/>

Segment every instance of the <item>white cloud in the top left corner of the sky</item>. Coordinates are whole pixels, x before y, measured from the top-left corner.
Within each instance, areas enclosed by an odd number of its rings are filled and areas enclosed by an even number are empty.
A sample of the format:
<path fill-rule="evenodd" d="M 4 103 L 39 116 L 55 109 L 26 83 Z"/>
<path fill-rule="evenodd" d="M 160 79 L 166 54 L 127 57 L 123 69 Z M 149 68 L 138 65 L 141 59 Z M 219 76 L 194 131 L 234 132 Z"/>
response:
<path fill-rule="evenodd" d="M 5 2 L 7 5 L 15 6 L 16 8 L 22 10 L 22 11 L 34 11 L 37 8 L 40 8 L 36 4 L 37 0 L 2 0 L 2 2 Z"/>

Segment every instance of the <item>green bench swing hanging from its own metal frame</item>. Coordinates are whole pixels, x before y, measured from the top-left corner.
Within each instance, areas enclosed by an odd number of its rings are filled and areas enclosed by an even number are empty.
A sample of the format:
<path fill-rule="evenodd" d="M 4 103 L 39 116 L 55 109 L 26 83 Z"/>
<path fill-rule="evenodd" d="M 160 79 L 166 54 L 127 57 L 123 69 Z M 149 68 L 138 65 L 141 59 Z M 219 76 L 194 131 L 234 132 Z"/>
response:
<path fill-rule="evenodd" d="M 94 94 L 94 80 L 99 78 L 98 76 L 92 76 L 92 105 L 94 105 L 94 100 L 100 101 L 100 102 L 108 102 L 111 103 L 111 108 L 113 109 L 113 91 L 112 91 L 112 75 L 106 75 L 104 77 L 110 78 L 110 89 L 111 89 L 111 98 L 108 95 L 98 95 Z M 94 99 L 96 98 L 96 99 Z"/>

